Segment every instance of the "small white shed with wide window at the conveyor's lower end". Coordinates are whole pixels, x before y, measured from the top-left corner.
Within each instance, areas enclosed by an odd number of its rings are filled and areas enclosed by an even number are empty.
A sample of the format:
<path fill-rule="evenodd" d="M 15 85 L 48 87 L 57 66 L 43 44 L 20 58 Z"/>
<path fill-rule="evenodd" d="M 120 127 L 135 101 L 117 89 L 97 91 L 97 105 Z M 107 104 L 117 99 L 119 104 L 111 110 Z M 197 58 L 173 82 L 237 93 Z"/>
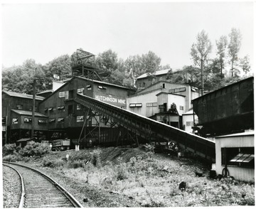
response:
<path fill-rule="evenodd" d="M 240 181 L 255 181 L 254 132 L 215 137 L 215 171 Z"/>

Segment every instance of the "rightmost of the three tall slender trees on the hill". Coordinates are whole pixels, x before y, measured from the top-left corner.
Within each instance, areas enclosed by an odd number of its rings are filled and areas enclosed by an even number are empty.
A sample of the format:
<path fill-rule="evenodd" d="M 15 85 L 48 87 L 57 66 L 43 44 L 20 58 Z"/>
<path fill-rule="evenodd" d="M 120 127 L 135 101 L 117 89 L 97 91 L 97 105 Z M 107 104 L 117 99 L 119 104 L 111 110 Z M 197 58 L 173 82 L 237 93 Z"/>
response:
<path fill-rule="evenodd" d="M 228 53 L 230 55 L 231 62 L 231 77 L 233 77 L 234 74 L 238 73 L 238 71 L 235 71 L 234 66 L 238 61 L 238 52 L 241 47 L 242 35 L 238 29 L 232 28 L 229 37 L 230 43 L 228 44 Z"/>

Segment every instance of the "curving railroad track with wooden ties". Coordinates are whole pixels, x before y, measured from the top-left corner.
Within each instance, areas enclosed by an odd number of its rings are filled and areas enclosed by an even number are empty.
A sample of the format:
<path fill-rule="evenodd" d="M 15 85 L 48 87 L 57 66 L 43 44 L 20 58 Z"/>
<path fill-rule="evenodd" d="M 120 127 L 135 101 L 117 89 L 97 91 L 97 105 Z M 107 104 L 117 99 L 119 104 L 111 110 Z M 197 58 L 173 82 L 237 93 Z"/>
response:
<path fill-rule="evenodd" d="M 83 208 L 73 195 L 52 178 L 28 166 L 3 162 L 13 168 L 21 178 L 19 208 Z"/>

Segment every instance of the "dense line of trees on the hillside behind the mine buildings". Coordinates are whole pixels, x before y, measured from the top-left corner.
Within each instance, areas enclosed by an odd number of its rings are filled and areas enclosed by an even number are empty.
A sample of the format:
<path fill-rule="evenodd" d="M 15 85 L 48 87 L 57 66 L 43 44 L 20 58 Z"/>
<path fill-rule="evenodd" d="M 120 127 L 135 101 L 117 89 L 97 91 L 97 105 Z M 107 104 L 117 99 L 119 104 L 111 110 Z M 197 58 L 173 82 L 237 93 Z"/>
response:
<path fill-rule="evenodd" d="M 156 70 L 170 69 L 167 79 L 170 82 L 190 83 L 201 88 L 201 63 L 203 64 L 204 90 L 211 91 L 228 85 L 230 82 L 252 75 L 250 58 L 238 57 L 242 45 L 242 35 L 232 28 L 228 36 L 220 36 L 215 41 L 215 58 L 210 58 L 213 45 L 206 31 L 196 36 L 191 46 L 193 65 L 185 65 L 172 70 L 171 65 L 161 65 L 161 58 L 149 51 L 142 55 L 130 55 L 126 60 L 118 58 L 113 50 L 105 50 L 95 56 L 95 66 L 100 72 L 108 75 L 102 77 L 106 82 L 135 87 L 136 77 L 144 73 L 154 76 Z M 52 80 L 65 80 L 71 77 L 72 60 L 70 55 L 60 55 L 46 65 L 28 59 L 22 65 L 14 65 L 2 70 L 2 89 L 32 94 L 33 80 L 36 80 L 36 92 L 50 89 Z M 153 75 L 152 75 L 153 74 Z M 150 78 L 150 77 L 149 77 Z"/>

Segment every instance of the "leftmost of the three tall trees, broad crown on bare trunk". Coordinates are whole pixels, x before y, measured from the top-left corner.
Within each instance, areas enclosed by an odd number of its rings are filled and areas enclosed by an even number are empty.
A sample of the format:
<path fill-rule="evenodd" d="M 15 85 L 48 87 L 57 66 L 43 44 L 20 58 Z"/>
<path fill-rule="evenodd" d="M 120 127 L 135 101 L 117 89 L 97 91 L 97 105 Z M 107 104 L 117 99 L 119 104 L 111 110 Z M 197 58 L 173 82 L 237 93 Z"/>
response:
<path fill-rule="evenodd" d="M 196 66 L 201 66 L 201 92 L 203 95 L 203 64 L 207 62 L 212 45 L 206 31 L 201 31 L 196 36 L 196 43 L 192 44 L 191 56 Z"/>

